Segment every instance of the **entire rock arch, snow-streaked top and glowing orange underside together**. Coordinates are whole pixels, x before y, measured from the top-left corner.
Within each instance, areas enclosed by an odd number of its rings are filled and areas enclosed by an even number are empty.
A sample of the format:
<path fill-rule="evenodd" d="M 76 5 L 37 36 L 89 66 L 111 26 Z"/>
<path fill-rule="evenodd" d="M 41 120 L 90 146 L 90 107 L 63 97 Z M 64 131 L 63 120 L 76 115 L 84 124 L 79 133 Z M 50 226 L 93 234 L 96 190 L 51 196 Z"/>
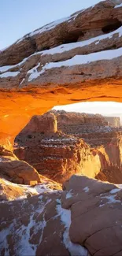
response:
<path fill-rule="evenodd" d="M 13 143 L 31 116 L 56 105 L 122 101 L 120 4 L 99 2 L 0 52 L 0 139 Z"/>

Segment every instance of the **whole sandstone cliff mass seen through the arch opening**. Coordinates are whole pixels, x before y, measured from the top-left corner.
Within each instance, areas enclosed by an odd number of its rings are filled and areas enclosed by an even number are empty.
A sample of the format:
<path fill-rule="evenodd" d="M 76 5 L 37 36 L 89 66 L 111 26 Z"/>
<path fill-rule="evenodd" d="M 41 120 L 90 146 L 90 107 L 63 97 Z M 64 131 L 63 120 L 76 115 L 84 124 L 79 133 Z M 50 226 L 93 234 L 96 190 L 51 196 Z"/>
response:
<path fill-rule="evenodd" d="M 58 130 L 54 133 L 52 115 Z M 78 173 L 120 184 L 121 138 L 121 128 L 109 126 L 102 115 L 51 110 L 31 118 L 15 139 L 14 154 L 61 183 Z"/>

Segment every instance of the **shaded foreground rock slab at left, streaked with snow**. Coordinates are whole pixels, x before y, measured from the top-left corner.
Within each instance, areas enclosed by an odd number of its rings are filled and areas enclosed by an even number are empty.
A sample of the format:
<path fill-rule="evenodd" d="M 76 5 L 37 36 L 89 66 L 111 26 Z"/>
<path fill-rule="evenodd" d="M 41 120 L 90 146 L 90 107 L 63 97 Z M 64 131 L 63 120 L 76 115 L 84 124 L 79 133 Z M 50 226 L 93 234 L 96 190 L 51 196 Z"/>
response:
<path fill-rule="evenodd" d="M 8 214 L 9 213 L 9 214 Z M 70 210 L 61 207 L 61 191 L 0 203 L 0 254 L 83 255 L 87 250 L 68 237 Z"/>

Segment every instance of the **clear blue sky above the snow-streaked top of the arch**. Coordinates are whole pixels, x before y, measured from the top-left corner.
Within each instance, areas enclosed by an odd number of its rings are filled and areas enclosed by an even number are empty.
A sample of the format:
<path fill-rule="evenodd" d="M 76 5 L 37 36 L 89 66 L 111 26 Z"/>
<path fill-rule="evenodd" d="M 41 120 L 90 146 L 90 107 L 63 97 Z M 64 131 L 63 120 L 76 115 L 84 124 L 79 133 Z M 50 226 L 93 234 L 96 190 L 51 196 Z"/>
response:
<path fill-rule="evenodd" d="M 99 0 L 0 0 L 0 50 L 28 32 Z"/>

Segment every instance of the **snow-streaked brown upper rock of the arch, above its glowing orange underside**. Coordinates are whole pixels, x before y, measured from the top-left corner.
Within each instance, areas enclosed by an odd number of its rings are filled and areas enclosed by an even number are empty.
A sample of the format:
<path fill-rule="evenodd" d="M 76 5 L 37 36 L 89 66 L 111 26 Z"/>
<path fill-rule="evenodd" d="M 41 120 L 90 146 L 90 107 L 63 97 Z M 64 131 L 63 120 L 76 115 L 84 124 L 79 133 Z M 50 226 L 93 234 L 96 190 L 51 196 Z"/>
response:
<path fill-rule="evenodd" d="M 100 80 L 105 83 L 110 78 L 117 79 L 118 83 L 122 76 L 122 57 L 118 54 L 122 46 L 120 3 L 121 0 L 99 2 L 72 14 L 64 22 L 58 20 L 31 32 L 3 50 L 0 53 L 0 87 L 4 90 L 24 87 L 25 91 L 30 91 L 31 87 L 47 88 L 47 85 L 65 87 L 65 83 L 89 81 L 90 84 Z M 80 41 L 83 44 L 79 45 Z M 60 47 L 55 49 L 55 46 Z M 109 50 L 113 50 L 110 52 L 112 59 L 108 57 Z M 99 57 L 97 53 L 101 53 Z M 76 62 L 78 57 L 80 61 Z M 65 66 L 67 60 L 73 65 Z M 4 65 L 9 65 L 6 70 L 15 72 L 13 76 L 7 75 Z"/>

